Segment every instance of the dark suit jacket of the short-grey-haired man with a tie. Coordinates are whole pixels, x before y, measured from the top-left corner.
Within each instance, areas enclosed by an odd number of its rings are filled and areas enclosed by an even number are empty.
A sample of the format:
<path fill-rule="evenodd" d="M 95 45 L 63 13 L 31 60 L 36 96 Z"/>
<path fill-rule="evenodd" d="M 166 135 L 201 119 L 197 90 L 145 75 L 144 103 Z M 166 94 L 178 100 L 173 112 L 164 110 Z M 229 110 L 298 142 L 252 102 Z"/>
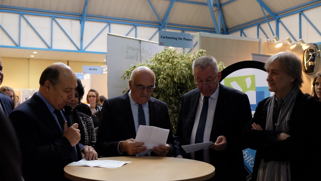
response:
<path fill-rule="evenodd" d="M 196 109 L 201 92 L 191 90 L 183 95 L 175 134 L 175 156 L 190 158 L 181 146 L 190 144 Z M 241 134 L 251 119 L 247 95 L 220 84 L 210 141 L 218 136 L 227 139 L 225 151 L 210 150 L 210 163 L 215 167 L 214 180 L 245 180 Z"/>

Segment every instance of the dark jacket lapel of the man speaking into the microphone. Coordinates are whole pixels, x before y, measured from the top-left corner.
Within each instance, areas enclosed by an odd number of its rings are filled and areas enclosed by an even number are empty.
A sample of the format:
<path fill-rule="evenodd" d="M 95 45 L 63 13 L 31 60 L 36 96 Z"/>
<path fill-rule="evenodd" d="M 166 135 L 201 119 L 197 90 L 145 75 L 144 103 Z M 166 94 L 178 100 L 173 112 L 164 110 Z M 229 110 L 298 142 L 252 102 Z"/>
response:
<path fill-rule="evenodd" d="M 33 94 L 30 98 L 31 105 L 34 107 L 34 110 L 37 110 L 41 116 L 45 117 L 42 121 L 48 125 L 48 127 L 57 135 L 61 136 L 62 132 L 59 129 L 59 125 L 57 124 L 54 116 L 48 109 L 45 102 L 37 95 L 37 93 Z"/>

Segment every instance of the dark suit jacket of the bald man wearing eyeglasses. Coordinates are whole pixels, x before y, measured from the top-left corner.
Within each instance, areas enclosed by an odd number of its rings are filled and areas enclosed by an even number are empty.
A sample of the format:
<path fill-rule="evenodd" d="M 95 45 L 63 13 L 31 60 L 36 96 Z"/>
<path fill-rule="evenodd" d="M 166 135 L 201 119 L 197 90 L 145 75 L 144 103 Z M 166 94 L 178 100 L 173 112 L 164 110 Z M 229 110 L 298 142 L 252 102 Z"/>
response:
<path fill-rule="evenodd" d="M 167 104 L 151 97 L 148 106 L 149 125 L 169 129 L 167 144 L 171 149 L 169 156 L 172 156 L 174 140 Z M 118 143 L 131 138 L 135 139 L 135 137 L 136 131 L 128 91 L 121 96 L 106 99 L 101 110 L 95 150 L 106 157 L 128 156 L 118 153 Z"/>

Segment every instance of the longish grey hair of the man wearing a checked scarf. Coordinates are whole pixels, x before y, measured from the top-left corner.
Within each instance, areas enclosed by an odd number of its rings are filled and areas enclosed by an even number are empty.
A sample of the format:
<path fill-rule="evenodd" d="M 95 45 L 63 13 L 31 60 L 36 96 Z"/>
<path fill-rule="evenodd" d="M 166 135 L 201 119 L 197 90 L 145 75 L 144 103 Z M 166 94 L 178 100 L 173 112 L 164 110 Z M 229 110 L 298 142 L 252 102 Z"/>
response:
<path fill-rule="evenodd" d="M 295 79 L 295 86 L 302 87 L 302 64 L 298 56 L 290 51 L 279 52 L 269 58 L 264 68 L 267 70 L 274 61 L 278 61 L 285 73 Z"/>

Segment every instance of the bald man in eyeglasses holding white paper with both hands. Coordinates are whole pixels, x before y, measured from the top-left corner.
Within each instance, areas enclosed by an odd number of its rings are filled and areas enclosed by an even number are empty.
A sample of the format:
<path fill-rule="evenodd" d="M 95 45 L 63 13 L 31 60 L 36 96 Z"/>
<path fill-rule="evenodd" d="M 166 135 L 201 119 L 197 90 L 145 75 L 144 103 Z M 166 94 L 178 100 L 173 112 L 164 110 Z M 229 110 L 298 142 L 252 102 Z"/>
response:
<path fill-rule="evenodd" d="M 101 110 L 95 149 L 101 156 L 128 156 L 146 151 L 143 142 L 135 142 L 139 125 L 169 129 L 166 145 L 152 149 L 153 156 L 172 156 L 174 141 L 167 104 L 155 99 L 155 74 L 145 66 L 130 75 L 129 91 L 106 99 Z"/>

